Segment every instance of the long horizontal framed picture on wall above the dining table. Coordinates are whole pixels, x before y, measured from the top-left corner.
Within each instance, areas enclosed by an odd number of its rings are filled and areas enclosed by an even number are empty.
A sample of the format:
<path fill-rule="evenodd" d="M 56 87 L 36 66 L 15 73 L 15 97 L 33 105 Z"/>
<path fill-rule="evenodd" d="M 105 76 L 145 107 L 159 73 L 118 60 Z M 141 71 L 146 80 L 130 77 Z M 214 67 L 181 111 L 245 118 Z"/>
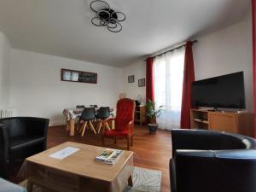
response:
<path fill-rule="evenodd" d="M 61 81 L 79 82 L 79 83 L 97 83 L 97 73 L 75 71 L 71 69 L 61 69 Z"/>

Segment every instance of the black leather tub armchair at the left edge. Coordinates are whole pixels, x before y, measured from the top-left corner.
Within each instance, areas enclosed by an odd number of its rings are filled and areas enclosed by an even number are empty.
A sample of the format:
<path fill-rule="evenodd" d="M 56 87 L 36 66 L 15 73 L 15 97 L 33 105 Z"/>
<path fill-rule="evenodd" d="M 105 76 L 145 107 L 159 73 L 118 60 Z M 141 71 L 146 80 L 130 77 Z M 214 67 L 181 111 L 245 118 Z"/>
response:
<path fill-rule="evenodd" d="M 9 165 L 46 149 L 49 119 L 12 117 L 0 119 L 0 173 Z"/>

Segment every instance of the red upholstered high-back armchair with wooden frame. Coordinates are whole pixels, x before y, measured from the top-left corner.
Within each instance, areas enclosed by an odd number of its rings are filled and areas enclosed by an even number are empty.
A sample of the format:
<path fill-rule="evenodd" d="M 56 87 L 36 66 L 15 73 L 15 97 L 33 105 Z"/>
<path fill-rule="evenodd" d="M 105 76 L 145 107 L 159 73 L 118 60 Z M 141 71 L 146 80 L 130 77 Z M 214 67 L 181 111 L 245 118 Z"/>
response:
<path fill-rule="evenodd" d="M 117 102 L 114 129 L 102 132 L 102 145 L 105 145 L 105 137 L 116 139 L 127 139 L 127 150 L 133 144 L 133 123 L 134 123 L 135 102 L 131 99 L 120 99 Z"/>

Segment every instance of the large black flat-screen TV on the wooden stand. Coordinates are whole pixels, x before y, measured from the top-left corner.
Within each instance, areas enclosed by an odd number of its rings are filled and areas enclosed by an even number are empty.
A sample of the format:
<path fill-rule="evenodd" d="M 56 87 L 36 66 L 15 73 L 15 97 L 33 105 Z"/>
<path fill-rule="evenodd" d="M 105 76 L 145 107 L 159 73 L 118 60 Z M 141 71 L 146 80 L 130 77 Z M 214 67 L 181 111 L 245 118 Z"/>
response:
<path fill-rule="evenodd" d="M 195 107 L 246 108 L 243 72 L 195 81 L 191 97 Z"/>

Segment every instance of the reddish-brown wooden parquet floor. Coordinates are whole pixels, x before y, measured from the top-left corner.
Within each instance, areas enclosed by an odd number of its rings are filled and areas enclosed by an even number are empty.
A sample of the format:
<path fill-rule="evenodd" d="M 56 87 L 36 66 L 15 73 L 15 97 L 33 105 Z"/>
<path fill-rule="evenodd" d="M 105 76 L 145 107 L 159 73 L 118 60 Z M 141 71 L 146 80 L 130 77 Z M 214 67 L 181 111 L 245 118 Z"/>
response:
<path fill-rule="evenodd" d="M 95 135 L 92 131 L 85 131 L 84 137 L 69 137 L 65 125 L 49 127 L 48 148 L 67 141 L 102 146 L 101 135 Z M 126 140 L 118 140 L 117 144 L 114 144 L 113 139 L 106 138 L 106 147 L 125 149 Z M 135 125 L 134 142 L 130 150 L 135 153 L 135 166 L 162 172 L 161 191 L 170 192 L 169 160 L 172 157 L 171 132 L 158 130 L 156 134 L 149 134 L 147 126 L 139 127 Z M 14 176 L 10 180 L 16 181 Z"/>

